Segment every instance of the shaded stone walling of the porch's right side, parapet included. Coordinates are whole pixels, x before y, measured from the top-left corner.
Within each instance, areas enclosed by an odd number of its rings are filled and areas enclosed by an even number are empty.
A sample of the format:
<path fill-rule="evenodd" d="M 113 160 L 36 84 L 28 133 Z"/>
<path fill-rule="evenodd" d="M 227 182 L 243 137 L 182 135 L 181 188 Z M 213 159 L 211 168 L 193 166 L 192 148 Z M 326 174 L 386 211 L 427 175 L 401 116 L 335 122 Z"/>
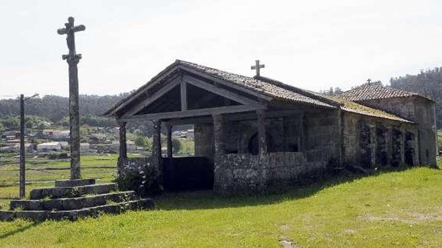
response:
<path fill-rule="evenodd" d="M 269 118 L 265 120 L 265 127 L 268 147 L 263 171 L 259 173 L 258 155 L 251 154 L 247 147 L 257 132 L 256 121 L 225 123 L 226 154 L 215 164 L 215 191 L 253 191 L 272 184 L 290 183 L 305 174 L 321 173 L 339 159 L 336 111 Z"/>

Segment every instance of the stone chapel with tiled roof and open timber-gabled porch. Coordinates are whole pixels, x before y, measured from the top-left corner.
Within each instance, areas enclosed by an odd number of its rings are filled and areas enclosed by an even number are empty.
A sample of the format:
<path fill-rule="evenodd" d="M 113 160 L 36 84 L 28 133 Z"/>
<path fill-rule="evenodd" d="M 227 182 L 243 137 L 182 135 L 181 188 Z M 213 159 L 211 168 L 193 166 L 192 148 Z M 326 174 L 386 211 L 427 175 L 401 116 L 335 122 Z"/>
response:
<path fill-rule="evenodd" d="M 149 163 L 166 189 L 230 193 L 337 167 L 435 165 L 434 107 L 429 98 L 392 88 L 368 84 L 324 96 L 176 60 L 105 116 L 120 124 L 119 169 Z M 127 157 L 131 121 L 153 122 L 152 156 Z M 194 126 L 195 156 L 174 157 L 172 128 L 184 124 Z"/>

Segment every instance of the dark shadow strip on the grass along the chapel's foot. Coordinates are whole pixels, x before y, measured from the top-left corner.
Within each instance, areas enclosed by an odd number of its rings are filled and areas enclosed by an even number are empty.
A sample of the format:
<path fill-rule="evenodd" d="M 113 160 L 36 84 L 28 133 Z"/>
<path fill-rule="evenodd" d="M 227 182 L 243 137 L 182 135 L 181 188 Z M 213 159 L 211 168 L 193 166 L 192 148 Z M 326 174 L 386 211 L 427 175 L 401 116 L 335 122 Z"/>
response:
<path fill-rule="evenodd" d="M 364 177 L 373 177 L 380 174 L 409 170 L 414 167 L 384 168 L 381 171 L 372 171 L 370 174 L 356 174 L 341 172 L 338 175 L 324 175 L 320 179 L 311 178 L 303 183 L 293 183 L 285 186 L 272 186 L 263 193 L 249 193 L 233 196 L 222 196 L 215 194 L 212 190 L 166 192 L 155 197 L 156 209 L 177 210 L 177 209 L 215 209 L 229 207 L 244 207 L 256 205 L 268 205 L 286 200 L 302 199 L 309 197 L 320 190 L 336 186 L 342 183 L 351 182 Z M 434 167 L 426 167 L 438 170 Z"/>

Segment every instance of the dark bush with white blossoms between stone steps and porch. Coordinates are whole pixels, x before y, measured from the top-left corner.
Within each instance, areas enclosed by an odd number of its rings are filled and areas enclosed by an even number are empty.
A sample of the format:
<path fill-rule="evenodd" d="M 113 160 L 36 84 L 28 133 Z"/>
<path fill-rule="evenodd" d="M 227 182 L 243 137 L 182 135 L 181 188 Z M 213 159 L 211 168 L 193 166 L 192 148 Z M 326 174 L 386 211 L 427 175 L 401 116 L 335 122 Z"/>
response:
<path fill-rule="evenodd" d="M 137 166 L 129 162 L 117 175 L 115 182 L 120 190 L 134 190 L 138 195 L 150 196 L 163 191 L 155 168 L 150 166 Z"/>

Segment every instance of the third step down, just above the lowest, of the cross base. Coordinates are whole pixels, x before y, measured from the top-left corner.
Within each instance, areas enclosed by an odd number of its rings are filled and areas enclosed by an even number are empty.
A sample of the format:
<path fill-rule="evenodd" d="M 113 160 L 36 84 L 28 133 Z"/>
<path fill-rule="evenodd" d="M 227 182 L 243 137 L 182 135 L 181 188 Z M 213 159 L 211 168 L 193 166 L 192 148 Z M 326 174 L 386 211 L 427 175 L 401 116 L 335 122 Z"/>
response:
<path fill-rule="evenodd" d="M 86 195 L 74 198 L 55 198 L 41 200 L 11 200 L 11 210 L 74 210 L 85 207 L 106 205 L 109 202 L 134 200 L 135 191 L 112 192 Z"/>

